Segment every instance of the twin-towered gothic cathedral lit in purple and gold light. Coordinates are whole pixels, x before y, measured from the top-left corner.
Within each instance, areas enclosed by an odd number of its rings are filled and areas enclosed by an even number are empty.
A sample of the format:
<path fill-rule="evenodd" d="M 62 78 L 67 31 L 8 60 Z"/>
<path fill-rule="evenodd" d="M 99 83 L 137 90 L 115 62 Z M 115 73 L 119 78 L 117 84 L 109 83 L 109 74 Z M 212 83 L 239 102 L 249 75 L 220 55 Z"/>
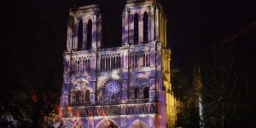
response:
<path fill-rule="evenodd" d="M 127 0 L 121 47 L 102 49 L 98 5 L 71 9 L 61 94 L 67 127 L 174 125 L 171 49 L 166 17 L 155 0 Z"/>

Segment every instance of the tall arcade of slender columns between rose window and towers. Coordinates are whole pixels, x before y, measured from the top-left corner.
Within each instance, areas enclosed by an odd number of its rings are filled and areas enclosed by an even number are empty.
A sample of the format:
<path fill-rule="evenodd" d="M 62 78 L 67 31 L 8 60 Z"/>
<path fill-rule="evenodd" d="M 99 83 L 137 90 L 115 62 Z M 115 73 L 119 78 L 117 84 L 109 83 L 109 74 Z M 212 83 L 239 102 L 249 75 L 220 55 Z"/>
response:
<path fill-rule="evenodd" d="M 154 44 L 138 44 L 112 49 L 75 51 L 64 56 L 65 68 L 72 73 L 114 71 L 124 67 L 150 67 L 150 49 Z M 70 65 L 72 64 L 72 65 Z"/>

